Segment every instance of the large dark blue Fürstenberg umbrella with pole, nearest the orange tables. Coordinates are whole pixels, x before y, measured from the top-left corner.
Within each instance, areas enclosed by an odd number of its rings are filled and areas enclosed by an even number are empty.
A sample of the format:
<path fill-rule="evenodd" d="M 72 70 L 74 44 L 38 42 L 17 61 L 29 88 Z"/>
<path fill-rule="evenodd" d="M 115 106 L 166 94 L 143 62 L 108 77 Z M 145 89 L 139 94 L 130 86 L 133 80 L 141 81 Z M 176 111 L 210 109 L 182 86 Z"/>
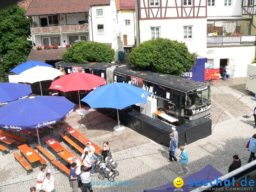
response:
<path fill-rule="evenodd" d="M 0 109 L 0 127 L 23 130 L 54 124 L 74 110 L 75 104 L 65 97 L 32 96 L 8 103 Z"/>

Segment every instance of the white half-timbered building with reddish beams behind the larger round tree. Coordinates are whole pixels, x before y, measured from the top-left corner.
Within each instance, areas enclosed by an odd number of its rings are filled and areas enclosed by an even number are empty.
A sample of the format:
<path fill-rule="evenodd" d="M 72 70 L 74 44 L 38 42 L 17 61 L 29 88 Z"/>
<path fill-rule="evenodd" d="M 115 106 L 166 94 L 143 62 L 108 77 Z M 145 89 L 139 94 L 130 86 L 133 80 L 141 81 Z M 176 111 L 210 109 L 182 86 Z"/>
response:
<path fill-rule="evenodd" d="M 136 0 L 136 4 L 137 45 L 170 38 L 186 42 L 190 52 L 206 54 L 206 0 Z"/>

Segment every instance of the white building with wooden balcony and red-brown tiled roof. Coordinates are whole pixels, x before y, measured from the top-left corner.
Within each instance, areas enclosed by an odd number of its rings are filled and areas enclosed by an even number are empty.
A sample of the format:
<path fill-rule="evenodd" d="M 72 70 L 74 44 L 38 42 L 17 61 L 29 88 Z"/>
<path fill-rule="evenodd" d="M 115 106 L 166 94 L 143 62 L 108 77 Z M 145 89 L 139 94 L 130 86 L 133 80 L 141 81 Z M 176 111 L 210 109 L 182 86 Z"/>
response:
<path fill-rule="evenodd" d="M 54 9 L 56 6 L 59 9 Z M 95 0 L 93 6 L 89 1 L 81 5 L 79 0 L 32 0 L 25 16 L 31 19 L 35 46 L 65 47 L 77 41 L 96 41 L 114 49 L 117 59 L 119 31 L 115 0 Z"/>

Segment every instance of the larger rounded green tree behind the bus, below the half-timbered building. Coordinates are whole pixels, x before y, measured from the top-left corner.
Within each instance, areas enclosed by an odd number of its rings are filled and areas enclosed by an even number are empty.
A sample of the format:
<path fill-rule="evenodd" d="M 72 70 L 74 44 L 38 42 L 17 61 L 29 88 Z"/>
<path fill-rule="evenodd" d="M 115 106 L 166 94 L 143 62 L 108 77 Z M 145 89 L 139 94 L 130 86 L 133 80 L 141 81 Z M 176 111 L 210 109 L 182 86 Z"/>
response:
<path fill-rule="evenodd" d="M 190 53 L 185 43 L 170 39 L 152 39 L 139 44 L 129 54 L 137 68 L 180 76 L 196 64 L 196 53 Z"/>

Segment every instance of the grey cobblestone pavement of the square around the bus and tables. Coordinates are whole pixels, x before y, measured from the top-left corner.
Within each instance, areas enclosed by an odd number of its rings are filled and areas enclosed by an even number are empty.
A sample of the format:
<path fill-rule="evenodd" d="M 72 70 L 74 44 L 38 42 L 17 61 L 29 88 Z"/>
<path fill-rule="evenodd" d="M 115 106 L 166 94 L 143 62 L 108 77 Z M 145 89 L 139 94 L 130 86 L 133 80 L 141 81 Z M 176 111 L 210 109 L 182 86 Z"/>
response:
<path fill-rule="evenodd" d="M 242 165 L 248 161 L 250 154 L 245 150 L 245 145 L 247 138 L 256 132 L 253 128 L 254 118 L 252 116 L 255 101 L 254 95 L 246 92 L 244 87 L 245 78 L 220 80 L 212 85 L 213 132 L 209 137 L 186 146 L 191 174 L 207 164 L 211 164 L 218 171 L 226 174 L 234 154 L 239 155 Z M 245 115 L 249 118 L 242 117 Z M 165 185 L 178 176 L 180 164 L 168 160 L 167 147 L 153 142 L 128 127 L 122 132 L 114 132 L 113 127 L 117 122 L 93 109 L 90 109 L 88 120 L 91 125 L 87 123 L 86 128 L 82 126 L 79 128 L 80 116 L 72 112 L 66 119 L 65 125 L 78 128 L 97 145 L 108 140 L 113 158 L 118 162 L 116 170 L 120 173 L 115 178 L 117 183 L 110 185 L 107 178 L 101 180 L 103 183 L 99 183 L 100 171 L 95 171 L 95 175 L 91 177 L 94 181 L 94 191 L 138 192 Z M 58 135 L 60 131 L 62 128 L 59 125 L 50 136 L 75 154 L 75 151 L 71 150 L 66 143 L 60 141 Z M 36 185 L 38 165 L 32 164 L 33 172 L 27 176 L 25 169 L 15 162 L 12 154 L 13 148 L 11 150 L 10 154 L 0 156 L 0 192 L 27 192 L 31 186 Z M 49 152 L 53 153 L 50 148 Z M 49 163 L 47 168 L 52 170 L 58 192 L 72 191 L 66 174 L 55 171 Z M 186 176 L 186 174 L 180 175 L 180 177 Z"/>

